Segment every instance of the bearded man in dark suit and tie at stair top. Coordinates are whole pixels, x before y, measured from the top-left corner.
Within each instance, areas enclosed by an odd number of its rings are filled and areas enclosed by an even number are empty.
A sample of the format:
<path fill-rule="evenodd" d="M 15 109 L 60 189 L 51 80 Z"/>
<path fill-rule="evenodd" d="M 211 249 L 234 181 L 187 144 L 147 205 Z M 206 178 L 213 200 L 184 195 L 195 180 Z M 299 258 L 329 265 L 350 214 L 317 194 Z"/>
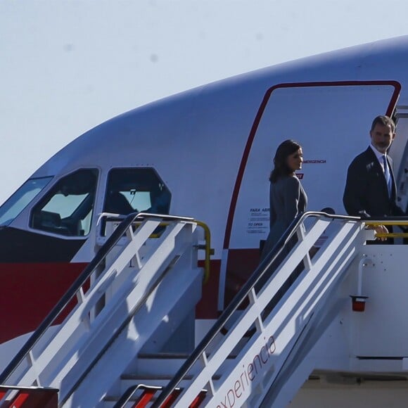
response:
<path fill-rule="evenodd" d="M 348 167 L 343 204 L 348 215 L 360 217 L 401 216 L 393 160 L 387 154 L 395 138 L 395 124 L 388 116 L 377 116 L 370 130 L 371 144 Z M 376 229 L 381 232 L 381 229 Z M 385 227 L 383 227 L 385 230 Z"/>

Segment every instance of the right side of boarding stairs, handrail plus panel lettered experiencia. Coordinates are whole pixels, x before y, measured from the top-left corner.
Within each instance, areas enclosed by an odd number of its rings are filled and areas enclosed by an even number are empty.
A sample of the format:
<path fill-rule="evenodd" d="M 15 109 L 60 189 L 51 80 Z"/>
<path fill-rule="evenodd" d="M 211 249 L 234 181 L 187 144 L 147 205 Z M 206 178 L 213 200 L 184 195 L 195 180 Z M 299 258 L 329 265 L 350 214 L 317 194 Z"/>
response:
<path fill-rule="evenodd" d="M 368 238 L 374 231 L 356 217 L 296 219 L 165 388 L 139 383 L 115 408 L 196 407 L 198 398 L 208 407 L 286 407 L 314 369 L 310 351 L 343 306 L 336 291 Z"/>

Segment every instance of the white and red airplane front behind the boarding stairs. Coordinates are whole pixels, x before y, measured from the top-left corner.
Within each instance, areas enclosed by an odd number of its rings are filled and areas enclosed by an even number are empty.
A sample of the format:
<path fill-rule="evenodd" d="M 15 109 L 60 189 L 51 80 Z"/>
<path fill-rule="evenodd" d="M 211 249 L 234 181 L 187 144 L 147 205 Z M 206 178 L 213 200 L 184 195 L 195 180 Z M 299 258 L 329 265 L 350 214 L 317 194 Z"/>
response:
<path fill-rule="evenodd" d="M 208 226 L 209 276 L 193 318 L 193 345 L 198 345 L 258 267 L 260 245 L 269 231 L 269 172 L 276 147 L 284 139 L 298 141 L 303 149 L 303 167 L 297 175 L 307 191 L 307 210 L 330 208 L 335 217 L 344 216 L 348 165 L 368 146 L 373 118 L 393 117 L 397 136 L 390 155 L 398 204 L 406 210 L 407 56 L 408 36 L 262 68 L 114 117 L 53 155 L 0 207 L 0 367 L 11 362 L 98 255 L 107 238 L 106 219 L 116 215 L 120 219 L 138 213 L 147 218 L 177 215 Z M 157 232 L 162 227 L 155 228 Z M 319 234 L 320 246 L 327 235 L 324 231 Z M 370 246 L 369 250 L 377 251 L 378 259 L 392 257 L 396 251 L 395 262 L 407 253 L 402 241 L 395 246 Z M 202 267 L 205 255 L 199 252 L 198 258 Z M 393 312 L 394 308 L 404 310 L 407 302 L 408 279 L 399 279 L 392 280 L 391 292 L 388 286 L 376 288 L 384 291 L 385 298 L 393 293 L 388 298 Z M 314 368 L 316 378 L 326 373 L 319 377 L 325 378 L 321 393 L 326 381 L 331 395 L 336 395 L 331 397 L 333 407 L 348 386 L 347 403 L 357 406 L 352 393 L 358 393 L 356 384 L 362 378 L 381 384 L 384 396 L 368 397 L 373 407 L 390 394 L 408 400 L 407 391 L 400 386 L 406 388 L 408 350 L 398 346 L 394 355 L 395 344 L 390 340 L 403 338 L 407 329 L 398 313 L 390 317 L 385 312 L 368 310 L 371 323 L 360 322 L 374 336 L 375 321 L 378 337 L 359 359 L 366 364 L 364 370 L 347 369 L 345 364 L 340 369 L 334 363 L 330 368 L 330 353 L 324 368 Z M 357 318 L 348 315 L 344 324 Z M 392 336 L 387 336 L 390 328 Z M 352 337 L 357 334 L 350 336 L 348 341 L 358 343 Z M 387 342 L 389 347 L 384 350 Z M 364 348 L 360 343 L 359 347 Z M 393 365 L 395 360 L 402 361 L 399 371 Z M 357 375 L 357 371 L 364 374 Z M 350 378 L 359 380 L 351 384 Z M 314 388 L 319 386 L 316 381 L 310 383 L 313 376 L 305 383 L 304 404 L 293 400 L 294 407 L 312 406 L 314 392 L 318 394 Z M 364 398 L 380 393 L 373 385 L 365 390 Z M 361 403 L 361 398 L 357 401 L 355 404 Z"/>

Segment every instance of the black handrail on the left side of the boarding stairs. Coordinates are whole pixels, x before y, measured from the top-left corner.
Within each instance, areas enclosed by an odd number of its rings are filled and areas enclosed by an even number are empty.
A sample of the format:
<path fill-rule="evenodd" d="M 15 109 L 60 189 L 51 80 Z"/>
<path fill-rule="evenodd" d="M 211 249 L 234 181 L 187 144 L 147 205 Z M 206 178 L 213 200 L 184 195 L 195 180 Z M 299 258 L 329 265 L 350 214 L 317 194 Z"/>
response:
<path fill-rule="evenodd" d="M 89 279 L 92 272 L 98 267 L 98 265 L 102 262 L 102 260 L 108 255 L 110 250 L 112 250 L 120 238 L 126 233 L 127 229 L 136 221 L 136 219 L 141 218 L 160 218 L 160 219 L 168 219 L 172 221 L 184 221 L 194 223 L 193 217 L 180 217 L 177 215 L 160 215 L 160 214 L 150 214 L 148 212 L 132 212 L 123 221 L 117 226 L 115 231 L 107 238 L 106 242 L 103 243 L 101 248 L 99 248 L 98 252 L 96 253 L 94 259 L 87 264 L 81 274 L 75 279 L 74 283 L 70 286 L 67 292 L 63 295 L 62 298 L 58 301 L 58 303 L 53 307 L 51 312 L 46 316 L 46 318 L 39 324 L 38 328 L 32 333 L 30 338 L 27 342 L 23 345 L 20 351 L 13 357 L 10 363 L 6 366 L 6 368 L 0 374 L 0 385 L 6 383 L 8 378 L 13 374 L 15 369 L 18 368 L 19 364 L 23 362 L 23 359 L 27 356 L 27 354 L 32 350 L 34 345 L 38 343 L 38 341 L 44 336 L 44 333 L 47 329 L 53 324 L 53 321 L 59 316 L 60 312 L 68 305 L 68 303 L 74 298 L 76 293 L 79 289 L 84 285 L 84 283 Z"/>

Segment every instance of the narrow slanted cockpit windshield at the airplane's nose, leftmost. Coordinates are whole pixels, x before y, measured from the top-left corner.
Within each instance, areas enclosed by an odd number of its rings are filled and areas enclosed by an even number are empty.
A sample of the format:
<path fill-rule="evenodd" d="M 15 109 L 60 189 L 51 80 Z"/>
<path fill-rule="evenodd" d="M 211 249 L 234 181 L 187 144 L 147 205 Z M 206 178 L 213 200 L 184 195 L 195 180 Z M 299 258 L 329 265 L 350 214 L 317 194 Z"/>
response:
<path fill-rule="evenodd" d="M 52 177 L 41 177 L 38 179 L 28 179 L 13 196 L 0 207 L 0 226 L 10 224 L 28 204 L 34 200 L 37 194 L 49 184 Z"/>

